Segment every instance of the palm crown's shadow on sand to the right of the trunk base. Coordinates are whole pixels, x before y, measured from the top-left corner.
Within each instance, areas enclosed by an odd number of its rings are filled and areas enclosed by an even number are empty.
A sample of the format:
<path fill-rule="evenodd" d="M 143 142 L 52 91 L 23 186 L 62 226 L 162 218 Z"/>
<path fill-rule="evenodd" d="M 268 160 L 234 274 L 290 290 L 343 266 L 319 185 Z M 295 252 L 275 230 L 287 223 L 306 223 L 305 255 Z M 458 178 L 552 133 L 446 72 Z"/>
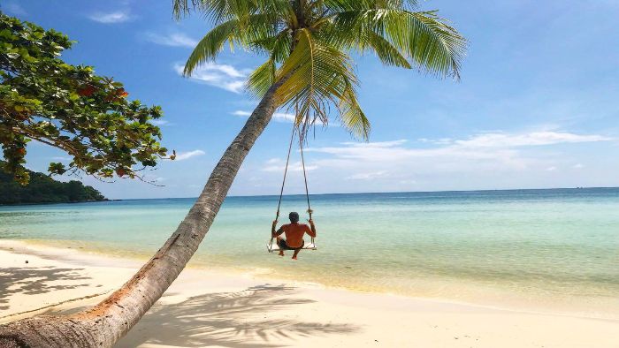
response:
<path fill-rule="evenodd" d="M 272 311 L 290 310 L 315 302 L 286 298 L 294 288 L 265 284 L 239 292 L 220 292 L 189 298 L 172 305 L 156 305 L 122 338 L 117 347 L 140 344 L 232 348 L 282 347 L 303 337 L 347 334 L 349 324 L 267 319 Z M 258 342 L 256 343 L 256 339 Z M 254 342 L 250 342 L 250 341 Z M 262 342 L 260 342 L 262 341 Z"/>

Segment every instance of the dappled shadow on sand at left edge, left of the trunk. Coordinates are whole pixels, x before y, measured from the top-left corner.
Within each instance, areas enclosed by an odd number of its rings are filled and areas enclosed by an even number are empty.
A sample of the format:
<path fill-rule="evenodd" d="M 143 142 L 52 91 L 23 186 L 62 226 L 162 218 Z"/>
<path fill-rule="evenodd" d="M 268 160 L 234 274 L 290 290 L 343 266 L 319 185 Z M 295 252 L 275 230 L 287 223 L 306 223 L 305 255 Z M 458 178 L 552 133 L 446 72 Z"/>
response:
<path fill-rule="evenodd" d="M 0 311 L 9 309 L 8 297 L 15 293 L 36 295 L 50 291 L 75 289 L 89 284 L 55 284 L 57 281 L 91 279 L 83 276 L 83 269 L 59 269 L 54 267 L 0 269 Z"/>

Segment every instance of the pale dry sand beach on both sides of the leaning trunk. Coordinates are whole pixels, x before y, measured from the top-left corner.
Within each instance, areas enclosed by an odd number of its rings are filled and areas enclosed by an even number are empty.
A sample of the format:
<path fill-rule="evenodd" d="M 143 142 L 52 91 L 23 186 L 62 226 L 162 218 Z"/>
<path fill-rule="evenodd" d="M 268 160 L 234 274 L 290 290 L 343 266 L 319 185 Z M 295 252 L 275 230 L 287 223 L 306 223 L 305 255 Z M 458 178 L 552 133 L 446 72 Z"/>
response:
<path fill-rule="evenodd" d="M 5 239 L 0 264 L 0 323 L 95 304 L 140 266 Z M 619 321 L 186 269 L 117 346 L 616 348 Z"/>

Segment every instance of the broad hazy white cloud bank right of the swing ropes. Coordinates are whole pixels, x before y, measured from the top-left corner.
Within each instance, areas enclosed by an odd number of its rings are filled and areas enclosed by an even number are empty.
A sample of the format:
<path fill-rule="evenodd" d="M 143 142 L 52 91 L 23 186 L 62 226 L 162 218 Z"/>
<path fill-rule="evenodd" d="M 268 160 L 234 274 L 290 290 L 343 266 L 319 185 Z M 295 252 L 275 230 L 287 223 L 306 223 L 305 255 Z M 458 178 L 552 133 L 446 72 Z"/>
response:
<path fill-rule="evenodd" d="M 516 173 L 531 173 L 531 180 L 535 180 L 534 173 L 558 170 L 564 165 L 565 157 L 524 147 L 608 140 L 611 138 L 568 132 L 493 132 L 467 140 L 417 140 L 433 144 L 430 148 L 407 145 L 407 140 L 390 140 L 346 142 L 306 151 L 322 154 L 323 159 L 313 163 L 319 166 L 321 178 L 340 178 L 350 181 L 350 185 L 355 180 L 365 180 L 370 183 L 368 185 L 378 185 L 383 190 L 401 191 L 424 187 L 441 179 L 450 180 L 455 187 L 461 188 L 475 182 L 476 186 L 484 187 L 484 180 L 490 179 L 501 182 L 496 178 L 505 178 L 508 185 L 509 178 Z M 344 187 L 345 182 L 340 185 Z"/>

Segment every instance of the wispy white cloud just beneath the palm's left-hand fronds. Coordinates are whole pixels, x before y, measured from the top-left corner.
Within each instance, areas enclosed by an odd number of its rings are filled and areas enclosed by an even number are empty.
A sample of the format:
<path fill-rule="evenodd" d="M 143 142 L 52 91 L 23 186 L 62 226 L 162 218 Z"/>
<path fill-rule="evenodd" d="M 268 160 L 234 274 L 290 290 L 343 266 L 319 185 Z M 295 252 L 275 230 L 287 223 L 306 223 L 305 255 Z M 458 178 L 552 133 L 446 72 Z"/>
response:
<path fill-rule="evenodd" d="M 180 75 L 183 74 L 183 68 L 182 64 L 174 64 L 174 70 Z M 195 68 L 189 79 L 233 93 L 241 93 L 245 87 L 248 73 L 249 71 L 238 70 L 232 65 L 206 62 Z"/>

